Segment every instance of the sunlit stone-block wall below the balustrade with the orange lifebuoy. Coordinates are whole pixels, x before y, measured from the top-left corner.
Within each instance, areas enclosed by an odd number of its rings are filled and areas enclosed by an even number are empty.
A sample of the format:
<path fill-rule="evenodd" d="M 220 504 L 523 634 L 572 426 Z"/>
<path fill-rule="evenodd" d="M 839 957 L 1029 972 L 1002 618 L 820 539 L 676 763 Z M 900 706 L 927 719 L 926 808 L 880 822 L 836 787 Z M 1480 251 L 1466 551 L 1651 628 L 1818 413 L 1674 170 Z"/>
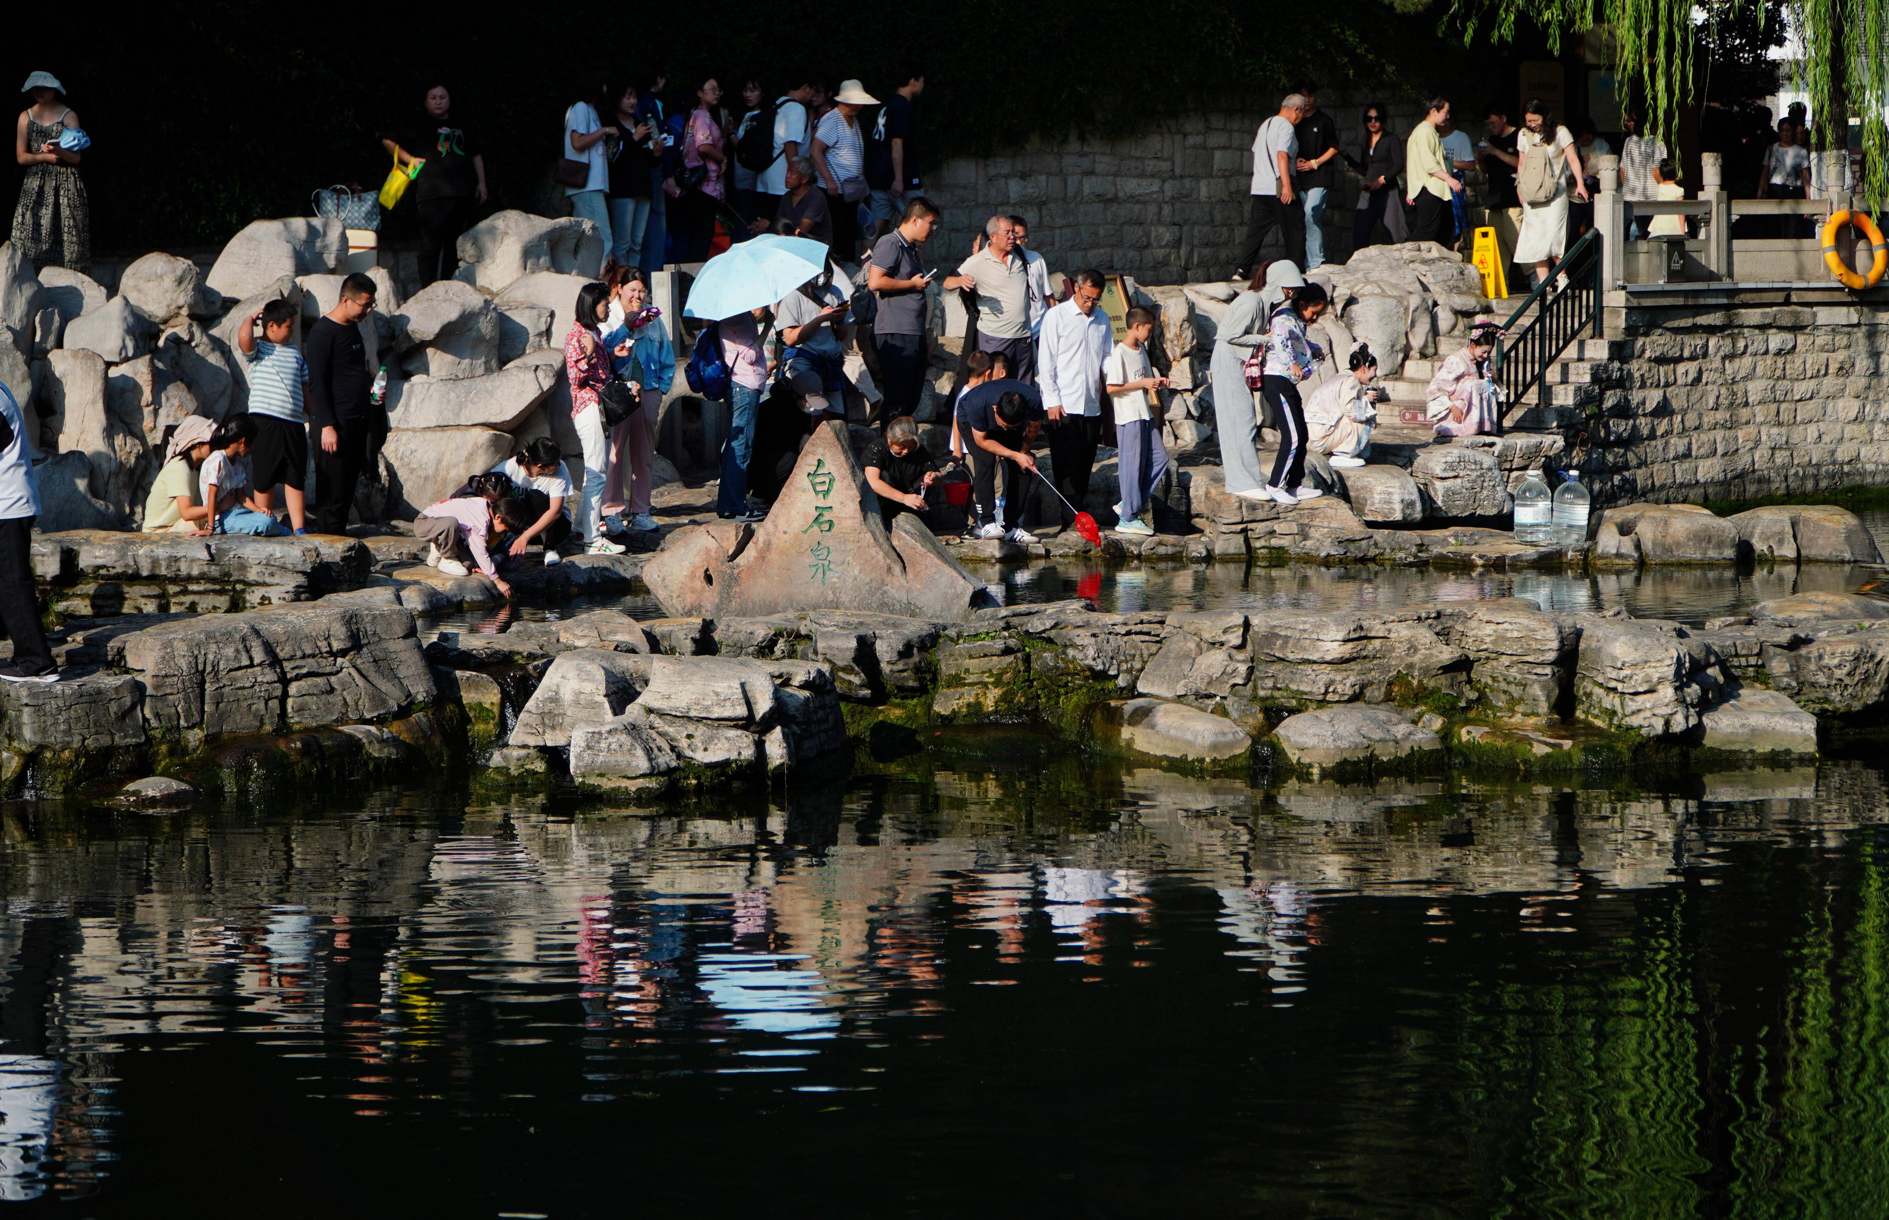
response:
<path fill-rule="evenodd" d="M 1609 315 L 1600 417 L 1562 421 L 1600 502 L 1889 483 L 1889 302 Z"/>

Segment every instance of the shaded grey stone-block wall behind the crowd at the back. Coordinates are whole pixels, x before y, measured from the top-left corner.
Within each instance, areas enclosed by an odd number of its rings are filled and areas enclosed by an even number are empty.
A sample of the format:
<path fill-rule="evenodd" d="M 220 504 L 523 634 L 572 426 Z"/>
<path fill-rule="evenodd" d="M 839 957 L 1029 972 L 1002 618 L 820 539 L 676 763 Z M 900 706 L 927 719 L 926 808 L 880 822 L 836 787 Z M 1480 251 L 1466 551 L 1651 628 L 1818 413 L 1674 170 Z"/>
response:
<path fill-rule="evenodd" d="M 1364 104 L 1328 98 L 1339 147 L 1358 155 Z M 1404 138 L 1419 106 L 1390 100 Z M 1030 223 L 1030 246 L 1052 270 L 1096 266 L 1143 283 L 1224 280 L 1247 232 L 1252 134 L 1271 106 L 1175 117 L 1132 140 L 1035 142 L 999 157 L 958 157 L 926 172 L 926 196 L 944 212 L 931 242 L 941 266 L 969 253 L 971 234 L 994 213 Z M 1351 251 L 1356 179 L 1339 164 L 1341 187 L 1326 208 L 1326 257 Z"/>

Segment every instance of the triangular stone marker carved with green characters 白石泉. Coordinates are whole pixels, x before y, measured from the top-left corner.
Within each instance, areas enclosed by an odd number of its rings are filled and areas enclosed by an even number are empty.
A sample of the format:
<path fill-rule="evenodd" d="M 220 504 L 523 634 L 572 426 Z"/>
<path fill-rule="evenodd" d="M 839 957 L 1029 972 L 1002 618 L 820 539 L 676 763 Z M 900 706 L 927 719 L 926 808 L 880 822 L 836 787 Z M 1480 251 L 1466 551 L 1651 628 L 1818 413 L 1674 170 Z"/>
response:
<path fill-rule="evenodd" d="M 880 523 L 842 425 L 814 431 L 767 519 L 669 536 L 642 568 L 671 616 L 761 618 L 788 610 L 873 610 L 963 621 L 994 604 L 931 531 L 901 514 Z"/>

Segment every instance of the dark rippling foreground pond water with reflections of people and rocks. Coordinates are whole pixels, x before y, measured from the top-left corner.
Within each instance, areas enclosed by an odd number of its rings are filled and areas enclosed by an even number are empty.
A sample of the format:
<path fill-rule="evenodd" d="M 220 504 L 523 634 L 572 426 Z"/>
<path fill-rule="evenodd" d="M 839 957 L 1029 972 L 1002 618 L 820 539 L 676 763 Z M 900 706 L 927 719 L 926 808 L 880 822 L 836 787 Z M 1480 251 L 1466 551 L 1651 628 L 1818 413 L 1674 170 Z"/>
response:
<path fill-rule="evenodd" d="M 70 1216 L 1779 1216 L 1889 1197 L 1859 761 L 1249 786 L 956 733 L 657 812 L 0 808 Z"/>

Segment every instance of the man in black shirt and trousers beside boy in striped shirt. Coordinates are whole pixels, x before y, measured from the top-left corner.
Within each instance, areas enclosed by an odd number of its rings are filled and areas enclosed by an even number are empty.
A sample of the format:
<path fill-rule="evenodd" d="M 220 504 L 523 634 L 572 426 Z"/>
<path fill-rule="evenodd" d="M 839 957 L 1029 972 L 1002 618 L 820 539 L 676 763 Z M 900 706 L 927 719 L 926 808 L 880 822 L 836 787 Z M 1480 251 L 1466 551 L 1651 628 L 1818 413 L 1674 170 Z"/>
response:
<path fill-rule="evenodd" d="M 374 308 L 374 281 L 355 272 L 342 280 L 342 298 L 308 329 L 308 431 L 315 451 L 315 533 L 348 533 L 368 438 L 387 431 L 387 410 L 368 398 L 361 319 Z"/>

